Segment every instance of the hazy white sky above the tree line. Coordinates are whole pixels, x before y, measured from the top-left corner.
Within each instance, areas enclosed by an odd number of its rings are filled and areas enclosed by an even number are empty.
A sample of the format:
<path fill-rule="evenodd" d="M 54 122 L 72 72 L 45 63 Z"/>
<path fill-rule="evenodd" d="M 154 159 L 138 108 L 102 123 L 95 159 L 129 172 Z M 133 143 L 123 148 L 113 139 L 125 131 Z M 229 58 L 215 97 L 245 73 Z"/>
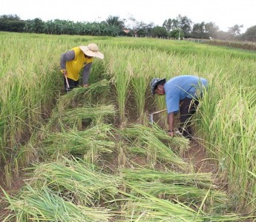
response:
<path fill-rule="evenodd" d="M 243 24 L 242 33 L 256 25 L 256 0 L 3 0 L 0 16 L 17 15 L 21 19 L 43 21 L 104 21 L 108 16 L 163 25 L 165 19 L 180 14 L 194 23 L 214 22 L 227 31 L 234 24 Z"/>

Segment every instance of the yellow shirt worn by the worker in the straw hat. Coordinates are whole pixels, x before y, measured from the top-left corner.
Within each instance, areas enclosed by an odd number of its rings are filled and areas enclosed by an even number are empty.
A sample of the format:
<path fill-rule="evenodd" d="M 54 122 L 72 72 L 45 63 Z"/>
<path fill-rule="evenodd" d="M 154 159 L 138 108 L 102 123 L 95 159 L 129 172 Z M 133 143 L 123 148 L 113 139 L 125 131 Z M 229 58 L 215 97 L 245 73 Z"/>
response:
<path fill-rule="evenodd" d="M 91 63 L 93 58 L 86 58 L 85 53 L 80 50 L 79 47 L 73 47 L 71 50 L 75 52 L 75 58 L 66 62 L 66 69 L 68 72 L 68 78 L 77 81 L 79 79 L 79 73 L 86 64 Z"/>

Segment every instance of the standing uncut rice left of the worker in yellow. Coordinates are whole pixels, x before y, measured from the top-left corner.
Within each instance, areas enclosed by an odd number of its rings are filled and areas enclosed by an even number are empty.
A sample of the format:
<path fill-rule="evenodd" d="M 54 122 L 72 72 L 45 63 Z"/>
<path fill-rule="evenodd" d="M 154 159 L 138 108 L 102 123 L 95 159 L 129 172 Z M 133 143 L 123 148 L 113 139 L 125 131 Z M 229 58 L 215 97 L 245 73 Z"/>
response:
<path fill-rule="evenodd" d="M 1 163 L 16 160 L 22 166 L 29 161 L 33 151 L 20 146 L 41 127 L 62 88 L 60 55 L 89 39 L 73 36 L 70 42 L 65 36 L 1 34 Z"/>

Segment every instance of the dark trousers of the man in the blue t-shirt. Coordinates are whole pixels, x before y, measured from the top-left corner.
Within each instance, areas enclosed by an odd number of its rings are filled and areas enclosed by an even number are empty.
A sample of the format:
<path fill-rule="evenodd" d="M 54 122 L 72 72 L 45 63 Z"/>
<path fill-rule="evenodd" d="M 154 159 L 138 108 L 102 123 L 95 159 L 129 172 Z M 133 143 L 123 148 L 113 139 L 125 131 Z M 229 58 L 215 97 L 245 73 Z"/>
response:
<path fill-rule="evenodd" d="M 197 110 L 199 102 L 192 98 L 185 98 L 180 105 L 180 128 L 179 131 L 186 138 L 191 138 L 191 115 Z"/>

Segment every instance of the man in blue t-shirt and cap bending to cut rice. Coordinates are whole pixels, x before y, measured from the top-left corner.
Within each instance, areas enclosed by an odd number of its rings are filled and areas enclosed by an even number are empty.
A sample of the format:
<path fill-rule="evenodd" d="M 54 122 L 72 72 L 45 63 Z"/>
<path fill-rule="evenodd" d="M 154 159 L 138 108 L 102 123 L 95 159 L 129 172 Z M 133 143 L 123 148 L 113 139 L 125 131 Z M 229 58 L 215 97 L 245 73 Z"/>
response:
<path fill-rule="evenodd" d="M 179 75 L 165 81 L 165 78 L 153 78 L 152 94 L 165 95 L 168 112 L 168 135 L 174 136 L 174 114 L 180 111 L 180 128 L 183 136 L 191 138 L 189 118 L 197 109 L 198 100 L 207 86 L 205 78 L 194 75 Z"/>

